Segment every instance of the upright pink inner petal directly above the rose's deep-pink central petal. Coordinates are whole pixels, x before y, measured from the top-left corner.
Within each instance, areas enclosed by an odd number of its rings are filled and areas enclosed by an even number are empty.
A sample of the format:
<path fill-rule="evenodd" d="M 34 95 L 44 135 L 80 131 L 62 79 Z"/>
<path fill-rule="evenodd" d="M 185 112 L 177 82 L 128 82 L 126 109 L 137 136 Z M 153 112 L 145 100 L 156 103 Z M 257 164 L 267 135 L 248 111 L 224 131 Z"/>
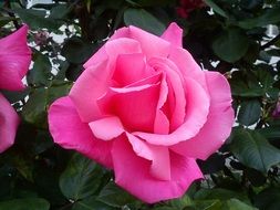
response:
<path fill-rule="evenodd" d="M 113 80 L 120 86 L 125 86 L 152 75 L 146 66 L 145 56 L 137 54 L 121 54 L 116 59 Z"/>

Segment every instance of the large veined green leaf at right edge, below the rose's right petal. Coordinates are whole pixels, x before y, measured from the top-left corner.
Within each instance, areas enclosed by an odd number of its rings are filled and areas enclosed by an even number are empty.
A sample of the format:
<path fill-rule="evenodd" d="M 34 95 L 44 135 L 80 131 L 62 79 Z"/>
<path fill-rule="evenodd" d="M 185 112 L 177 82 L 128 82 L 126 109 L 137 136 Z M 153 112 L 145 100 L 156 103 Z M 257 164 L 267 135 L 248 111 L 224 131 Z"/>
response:
<path fill-rule="evenodd" d="M 237 128 L 232 133 L 230 150 L 245 166 L 267 172 L 280 162 L 280 150 L 258 132 Z"/>

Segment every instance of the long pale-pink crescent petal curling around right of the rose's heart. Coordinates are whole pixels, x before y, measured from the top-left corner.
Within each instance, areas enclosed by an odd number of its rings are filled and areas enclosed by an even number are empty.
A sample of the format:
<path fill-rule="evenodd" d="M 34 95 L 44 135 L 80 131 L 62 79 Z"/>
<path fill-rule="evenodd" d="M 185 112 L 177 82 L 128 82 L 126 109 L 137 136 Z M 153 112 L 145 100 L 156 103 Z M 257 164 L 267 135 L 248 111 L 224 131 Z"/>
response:
<path fill-rule="evenodd" d="M 209 112 L 209 96 L 205 90 L 194 80 L 186 78 L 186 117 L 176 130 L 169 135 L 149 134 L 144 132 L 133 133 L 136 136 L 154 145 L 176 145 L 179 141 L 188 140 L 200 133 L 200 128 L 207 120 Z"/>

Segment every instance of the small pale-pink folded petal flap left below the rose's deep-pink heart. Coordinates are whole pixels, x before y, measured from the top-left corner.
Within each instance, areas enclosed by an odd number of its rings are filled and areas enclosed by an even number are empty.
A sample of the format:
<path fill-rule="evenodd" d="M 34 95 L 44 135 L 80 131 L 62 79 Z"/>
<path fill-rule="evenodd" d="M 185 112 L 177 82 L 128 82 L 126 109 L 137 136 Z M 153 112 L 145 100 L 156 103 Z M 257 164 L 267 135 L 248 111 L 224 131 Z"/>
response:
<path fill-rule="evenodd" d="M 89 125 L 94 136 L 102 140 L 111 140 L 124 132 L 123 125 L 116 116 L 104 117 L 91 122 Z"/>

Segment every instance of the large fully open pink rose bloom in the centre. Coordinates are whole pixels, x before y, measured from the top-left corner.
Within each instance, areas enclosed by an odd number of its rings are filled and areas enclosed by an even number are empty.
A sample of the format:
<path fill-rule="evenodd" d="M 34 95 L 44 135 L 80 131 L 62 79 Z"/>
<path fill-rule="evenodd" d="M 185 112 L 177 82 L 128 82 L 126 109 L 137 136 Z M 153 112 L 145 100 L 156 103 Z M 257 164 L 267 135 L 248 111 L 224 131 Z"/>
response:
<path fill-rule="evenodd" d="M 117 30 L 49 111 L 54 141 L 113 169 L 145 202 L 178 198 L 234 123 L 227 80 L 201 71 L 172 23 L 158 38 Z"/>

